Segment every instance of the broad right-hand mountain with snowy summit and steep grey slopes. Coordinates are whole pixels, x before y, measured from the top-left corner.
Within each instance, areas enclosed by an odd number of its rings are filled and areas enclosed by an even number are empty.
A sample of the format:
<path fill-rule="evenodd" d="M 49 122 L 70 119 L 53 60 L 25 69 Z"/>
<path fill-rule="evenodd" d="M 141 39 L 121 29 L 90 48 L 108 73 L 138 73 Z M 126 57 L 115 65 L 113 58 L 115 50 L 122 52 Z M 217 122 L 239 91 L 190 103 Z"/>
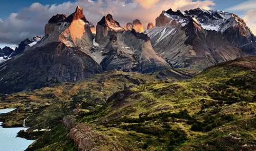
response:
<path fill-rule="evenodd" d="M 234 14 L 200 8 L 185 12 L 169 9 L 155 21 L 156 26 L 146 34 L 155 51 L 173 67 L 202 70 L 254 51 L 253 44 L 247 49 L 250 52 L 241 49 L 240 45 L 253 41 L 254 35 Z"/>

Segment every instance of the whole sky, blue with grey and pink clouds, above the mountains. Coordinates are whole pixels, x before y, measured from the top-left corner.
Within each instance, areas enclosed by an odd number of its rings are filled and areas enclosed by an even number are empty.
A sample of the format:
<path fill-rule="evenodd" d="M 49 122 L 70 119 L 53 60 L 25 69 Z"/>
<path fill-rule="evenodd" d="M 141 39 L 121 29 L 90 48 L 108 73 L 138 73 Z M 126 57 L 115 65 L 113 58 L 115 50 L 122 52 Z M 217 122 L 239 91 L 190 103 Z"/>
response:
<path fill-rule="evenodd" d="M 121 25 L 134 19 L 155 22 L 162 10 L 217 9 L 237 14 L 256 34 L 256 0 L 0 0 L 0 48 L 16 47 L 35 35 L 44 35 L 44 26 L 56 14 L 71 14 L 82 6 L 85 17 L 97 22 L 108 13 Z"/>

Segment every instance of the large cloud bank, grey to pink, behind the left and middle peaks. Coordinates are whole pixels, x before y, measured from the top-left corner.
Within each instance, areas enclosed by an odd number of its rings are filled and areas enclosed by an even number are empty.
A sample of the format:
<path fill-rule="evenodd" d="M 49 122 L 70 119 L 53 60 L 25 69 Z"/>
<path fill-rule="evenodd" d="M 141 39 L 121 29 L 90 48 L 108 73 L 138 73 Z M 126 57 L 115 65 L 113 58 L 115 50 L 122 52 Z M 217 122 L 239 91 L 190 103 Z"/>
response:
<path fill-rule="evenodd" d="M 210 9 L 212 0 L 77 0 L 62 4 L 43 5 L 33 3 L 28 8 L 22 8 L 18 13 L 12 13 L 0 22 L 0 43 L 18 44 L 26 38 L 44 35 L 44 26 L 56 14 L 71 14 L 79 5 L 84 10 L 85 17 L 97 24 L 108 13 L 115 20 L 125 25 L 134 19 L 143 24 L 155 22 L 162 10 L 187 10 L 192 8 Z"/>

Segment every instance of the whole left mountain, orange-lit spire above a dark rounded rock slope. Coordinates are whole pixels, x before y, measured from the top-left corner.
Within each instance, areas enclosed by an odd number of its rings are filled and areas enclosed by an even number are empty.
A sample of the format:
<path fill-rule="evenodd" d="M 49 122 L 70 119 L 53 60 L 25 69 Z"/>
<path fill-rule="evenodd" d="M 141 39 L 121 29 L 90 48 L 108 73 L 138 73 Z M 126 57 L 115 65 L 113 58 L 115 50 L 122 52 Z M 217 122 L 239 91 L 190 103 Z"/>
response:
<path fill-rule="evenodd" d="M 52 17 L 45 33 L 45 37 L 23 55 L 0 65 L 0 92 L 75 82 L 101 73 L 101 66 L 90 56 L 92 34 L 82 8 L 77 7 L 69 17 Z M 18 49 L 23 50 L 29 41 L 22 42 Z"/>

